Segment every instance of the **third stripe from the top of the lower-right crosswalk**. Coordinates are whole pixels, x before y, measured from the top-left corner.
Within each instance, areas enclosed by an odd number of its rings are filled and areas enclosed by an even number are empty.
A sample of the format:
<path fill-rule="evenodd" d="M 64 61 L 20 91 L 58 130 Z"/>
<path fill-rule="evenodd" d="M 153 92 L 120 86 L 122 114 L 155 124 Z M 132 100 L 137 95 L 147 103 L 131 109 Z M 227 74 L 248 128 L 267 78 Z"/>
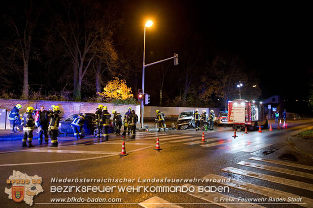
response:
<path fill-rule="evenodd" d="M 302 188 L 302 189 L 306 189 L 309 191 L 313 191 L 313 184 L 304 183 L 304 182 L 300 182 L 300 181 L 294 181 L 294 180 L 290 180 L 290 179 L 286 179 L 286 178 L 279 178 L 276 176 L 266 175 L 266 174 L 262 174 L 262 173 L 256 173 L 256 172 L 247 171 L 247 170 L 241 170 L 241 169 L 233 168 L 233 167 L 224 168 L 224 169 L 222 169 L 222 171 L 228 172 L 228 173 L 234 173 L 234 174 L 238 174 L 238 175 L 243 175 L 243 176 L 248 176 L 251 178 L 257 178 L 260 180 L 266 180 L 266 181 L 270 181 L 270 182 L 274 182 L 274 183 L 280 183 L 280 184 L 284 184 L 284 185 L 288 185 L 288 186 L 292 186 L 292 187 L 296 187 L 296 188 Z"/>

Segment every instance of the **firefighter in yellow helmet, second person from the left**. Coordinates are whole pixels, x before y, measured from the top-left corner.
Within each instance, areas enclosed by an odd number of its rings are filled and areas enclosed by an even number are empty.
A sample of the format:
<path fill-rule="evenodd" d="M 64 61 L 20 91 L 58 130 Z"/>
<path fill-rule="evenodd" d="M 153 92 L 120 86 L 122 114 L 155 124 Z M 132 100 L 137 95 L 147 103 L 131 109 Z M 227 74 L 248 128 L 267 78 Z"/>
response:
<path fill-rule="evenodd" d="M 26 112 L 23 115 L 24 134 L 23 134 L 22 147 L 27 147 L 26 141 L 28 143 L 29 148 L 35 147 L 31 144 L 33 140 L 33 129 L 34 129 L 34 120 L 33 120 L 33 115 L 32 115 L 33 111 L 34 111 L 34 108 L 29 106 L 27 107 Z"/>

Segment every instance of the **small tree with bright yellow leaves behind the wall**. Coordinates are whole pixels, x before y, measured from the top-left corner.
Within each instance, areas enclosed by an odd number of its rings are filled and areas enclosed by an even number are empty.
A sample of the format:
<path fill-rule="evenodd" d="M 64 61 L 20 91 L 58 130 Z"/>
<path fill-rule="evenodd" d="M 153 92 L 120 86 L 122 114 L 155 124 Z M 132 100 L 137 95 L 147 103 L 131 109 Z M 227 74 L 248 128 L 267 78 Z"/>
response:
<path fill-rule="evenodd" d="M 108 82 L 108 84 L 103 88 L 103 93 L 98 94 L 105 97 L 109 102 L 115 99 L 128 100 L 134 97 L 131 88 L 127 87 L 126 81 L 120 80 L 117 77 Z"/>

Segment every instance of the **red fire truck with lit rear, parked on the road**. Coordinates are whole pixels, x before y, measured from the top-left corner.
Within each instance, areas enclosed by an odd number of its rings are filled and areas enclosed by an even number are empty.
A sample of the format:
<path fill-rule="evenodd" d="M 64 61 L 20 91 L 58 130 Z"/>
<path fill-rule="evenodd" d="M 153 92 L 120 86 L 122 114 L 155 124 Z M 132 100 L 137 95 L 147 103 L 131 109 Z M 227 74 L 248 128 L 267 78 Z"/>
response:
<path fill-rule="evenodd" d="M 233 128 L 257 129 L 257 125 L 268 128 L 268 116 L 262 102 L 248 100 L 228 101 L 228 124 Z"/>

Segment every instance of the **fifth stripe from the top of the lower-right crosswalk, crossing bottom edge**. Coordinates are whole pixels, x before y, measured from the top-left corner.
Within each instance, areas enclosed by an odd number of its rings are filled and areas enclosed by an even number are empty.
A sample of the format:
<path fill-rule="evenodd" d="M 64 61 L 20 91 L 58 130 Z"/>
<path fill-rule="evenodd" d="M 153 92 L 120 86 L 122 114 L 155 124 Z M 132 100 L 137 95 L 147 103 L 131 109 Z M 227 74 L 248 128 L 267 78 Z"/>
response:
<path fill-rule="evenodd" d="M 191 196 L 194 196 L 194 197 L 197 197 L 197 198 L 200 198 L 200 199 L 203 199 L 205 201 L 208 201 L 208 202 L 211 202 L 211 203 L 214 203 L 214 204 L 218 204 L 220 206 L 223 206 L 223 207 L 227 207 L 227 208 L 237 208 L 237 207 L 258 207 L 258 208 L 261 208 L 261 207 L 264 207 L 264 206 L 260 206 L 260 205 L 257 205 L 257 204 L 254 204 L 254 203 L 249 203 L 249 202 L 241 202 L 238 200 L 238 198 L 235 198 L 235 197 L 231 197 L 231 196 L 227 196 L 227 195 L 224 195 L 224 194 L 221 194 L 221 193 L 218 193 L 218 192 L 210 192 L 210 193 L 206 193 L 206 192 L 198 192 L 198 187 L 195 186 L 195 185 L 191 185 L 189 183 L 186 183 L 182 186 L 186 186 L 186 187 L 190 187 L 190 186 L 193 186 L 195 189 L 194 192 L 185 192 Z M 221 199 L 221 198 L 224 198 L 225 201 L 228 201 L 227 203 L 225 203 L 224 201 L 215 201 L 215 198 L 218 198 L 218 199 Z M 230 202 L 230 203 L 229 203 Z"/>

